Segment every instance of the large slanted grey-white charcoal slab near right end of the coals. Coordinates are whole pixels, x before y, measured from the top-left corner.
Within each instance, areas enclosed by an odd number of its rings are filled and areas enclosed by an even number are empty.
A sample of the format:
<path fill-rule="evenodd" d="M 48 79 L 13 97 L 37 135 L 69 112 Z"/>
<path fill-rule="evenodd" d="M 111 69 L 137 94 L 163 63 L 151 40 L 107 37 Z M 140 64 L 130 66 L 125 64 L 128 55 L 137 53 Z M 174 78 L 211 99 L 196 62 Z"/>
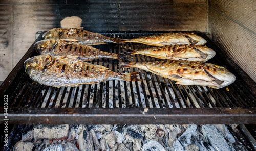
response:
<path fill-rule="evenodd" d="M 212 147 L 218 150 L 235 150 L 232 144 L 214 125 L 203 125 L 202 132 Z"/>

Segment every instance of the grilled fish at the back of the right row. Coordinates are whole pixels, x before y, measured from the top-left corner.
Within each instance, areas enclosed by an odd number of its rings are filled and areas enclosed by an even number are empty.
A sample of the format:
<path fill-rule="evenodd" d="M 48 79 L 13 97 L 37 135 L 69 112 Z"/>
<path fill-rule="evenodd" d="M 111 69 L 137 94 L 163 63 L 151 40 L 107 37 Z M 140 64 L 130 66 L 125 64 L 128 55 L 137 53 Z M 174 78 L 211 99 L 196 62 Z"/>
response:
<path fill-rule="evenodd" d="M 194 33 L 162 33 L 152 36 L 144 36 L 134 39 L 123 39 L 120 43 L 135 42 L 154 46 L 174 45 L 174 44 L 194 44 L 203 45 L 206 40 Z"/>

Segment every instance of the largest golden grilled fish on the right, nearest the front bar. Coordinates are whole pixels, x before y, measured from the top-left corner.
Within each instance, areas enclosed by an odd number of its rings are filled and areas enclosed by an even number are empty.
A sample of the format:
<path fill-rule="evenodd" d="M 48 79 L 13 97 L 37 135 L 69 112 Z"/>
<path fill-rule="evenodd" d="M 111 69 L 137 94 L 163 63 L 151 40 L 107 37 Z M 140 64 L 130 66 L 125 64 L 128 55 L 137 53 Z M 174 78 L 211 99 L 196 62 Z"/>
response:
<path fill-rule="evenodd" d="M 200 85 L 219 89 L 230 85 L 236 77 L 227 69 L 204 62 L 165 60 L 147 63 L 123 63 L 122 67 L 140 68 L 181 85 Z"/>

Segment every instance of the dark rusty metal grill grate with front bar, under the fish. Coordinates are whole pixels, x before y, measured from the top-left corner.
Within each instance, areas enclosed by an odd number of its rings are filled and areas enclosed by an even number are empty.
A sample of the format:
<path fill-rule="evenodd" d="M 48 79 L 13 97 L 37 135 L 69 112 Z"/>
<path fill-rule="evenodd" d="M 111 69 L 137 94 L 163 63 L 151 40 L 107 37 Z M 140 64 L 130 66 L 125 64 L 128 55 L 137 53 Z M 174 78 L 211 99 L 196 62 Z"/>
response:
<path fill-rule="evenodd" d="M 135 38 L 156 32 L 102 33 L 109 37 Z M 209 60 L 224 66 L 237 77 L 236 82 L 222 88 L 182 86 L 137 68 L 119 69 L 114 59 L 98 59 L 115 72 L 140 72 L 139 82 L 106 81 L 80 87 L 54 88 L 34 82 L 25 73 L 23 62 L 36 54 L 33 45 L 16 65 L 0 88 L 1 98 L 8 95 L 10 123 L 84 123 L 84 124 L 255 124 L 256 85 L 205 34 L 206 46 L 217 55 Z M 36 40 L 41 40 L 41 36 Z M 125 49 L 151 47 L 144 44 L 97 45 L 101 51 L 121 53 Z M 129 56 L 132 61 L 158 59 L 143 55 Z M 4 104 L 1 119 L 4 119 Z M 147 110 L 148 109 L 148 110 Z"/>

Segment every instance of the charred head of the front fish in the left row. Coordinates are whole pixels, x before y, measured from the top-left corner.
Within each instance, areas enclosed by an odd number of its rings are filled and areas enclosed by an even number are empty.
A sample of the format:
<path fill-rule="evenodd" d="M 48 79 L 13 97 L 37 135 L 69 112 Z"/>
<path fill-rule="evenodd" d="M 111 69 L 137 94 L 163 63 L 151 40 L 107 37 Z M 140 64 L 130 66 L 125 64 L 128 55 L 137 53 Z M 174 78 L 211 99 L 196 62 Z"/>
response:
<path fill-rule="evenodd" d="M 44 70 L 53 61 L 50 55 L 34 56 L 24 62 L 26 73 L 31 75 L 33 72 Z"/>

